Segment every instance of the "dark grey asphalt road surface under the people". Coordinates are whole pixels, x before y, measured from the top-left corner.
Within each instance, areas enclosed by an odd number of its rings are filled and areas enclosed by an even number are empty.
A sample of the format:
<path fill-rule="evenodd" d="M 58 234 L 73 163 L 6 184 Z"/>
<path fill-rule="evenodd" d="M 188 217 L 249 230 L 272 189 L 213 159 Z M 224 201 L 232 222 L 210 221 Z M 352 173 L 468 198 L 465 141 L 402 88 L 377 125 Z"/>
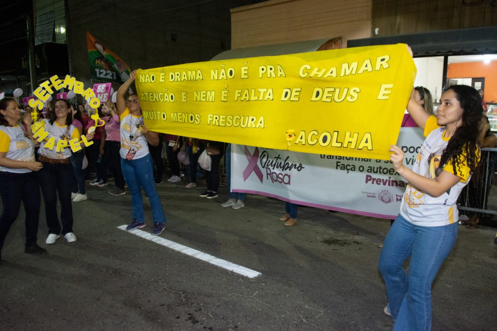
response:
<path fill-rule="evenodd" d="M 89 200 L 73 203 L 77 242 L 45 245 L 41 211 L 46 256 L 23 253 L 21 211 L 2 250 L 0 330 L 391 330 L 377 269 L 388 220 L 301 207 L 285 227 L 282 201 L 248 195 L 245 207 L 222 208 L 226 187 L 209 200 L 185 184 L 158 186 L 161 237 L 261 275 L 118 229 L 131 221 L 129 194 L 87 185 Z M 433 330 L 496 330 L 495 234 L 460 226 L 433 284 Z"/>

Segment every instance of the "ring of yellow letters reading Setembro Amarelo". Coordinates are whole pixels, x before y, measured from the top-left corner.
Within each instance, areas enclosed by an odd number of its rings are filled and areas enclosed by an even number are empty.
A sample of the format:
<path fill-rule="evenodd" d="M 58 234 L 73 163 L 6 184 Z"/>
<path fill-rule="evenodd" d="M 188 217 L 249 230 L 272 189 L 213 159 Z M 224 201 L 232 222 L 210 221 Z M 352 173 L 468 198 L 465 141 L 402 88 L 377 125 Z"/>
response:
<path fill-rule="evenodd" d="M 48 101 L 50 96 L 61 88 L 68 88 L 76 94 L 81 94 L 93 109 L 97 109 L 100 106 L 100 100 L 95 96 L 95 92 L 93 92 L 91 88 L 84 89 L 83 82 L 76 80 L 75 77 L 71 77 L 70 75 L 66 75 L 64 80 L 59 79 L 59 76 L 57 75 L 53 75 L 48 80 L 41 83 L 36 90 L 34 90 L 33 95 L 38 99 L 29 100 L 29 106 L 33 108 L 33 112 L 31 114 L 34 121 L 36 121 L 38 116 L 36 109 L 42 110 L 44 103 Z M 95 120 L 95 126 L 89 128 L 88 132 L 93 132 L 96 127 L 101 127 L 105 124 L 105 122 L 98 117 L 97 112 L 91 115 L 91 118 Z M 46 139 L 49 134 L 40 122 L 33 123 L 31 125 L 31 130 L 33 132 L 33 138 L 40 142 Z M 49 149 L 55 148 L 57 152 L 60 152 L 63 151 L 65 147 L 70 146 L 73 152 L 77 152 L 82 149 L 82 143 L 85 146 L 89 146 L 93 144 L 93 141 L 88 141 L 86 136 L 81 135 L 81 140 L 78 138 L 71 140 L 59 139 L 56 143 L 55 137 L 50 137 L 44 147 Z"/>

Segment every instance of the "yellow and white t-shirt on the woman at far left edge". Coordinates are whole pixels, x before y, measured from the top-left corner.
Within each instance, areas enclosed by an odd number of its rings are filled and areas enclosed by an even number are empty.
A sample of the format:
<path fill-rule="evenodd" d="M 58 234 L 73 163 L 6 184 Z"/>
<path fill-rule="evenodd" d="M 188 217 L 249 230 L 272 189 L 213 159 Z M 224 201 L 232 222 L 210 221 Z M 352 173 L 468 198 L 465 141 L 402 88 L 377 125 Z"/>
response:
<path fill-rule="evenodd" d="M 15 161 L 33 162 L 34 145 L 26 135 L 21 126 L 6 127 L 0 125 L 0 152 L 4 152 L 5 157 Z M 0 171 L 24 174 L 31 172 L 27 168 L 7 168 L 0 166 Z"/>

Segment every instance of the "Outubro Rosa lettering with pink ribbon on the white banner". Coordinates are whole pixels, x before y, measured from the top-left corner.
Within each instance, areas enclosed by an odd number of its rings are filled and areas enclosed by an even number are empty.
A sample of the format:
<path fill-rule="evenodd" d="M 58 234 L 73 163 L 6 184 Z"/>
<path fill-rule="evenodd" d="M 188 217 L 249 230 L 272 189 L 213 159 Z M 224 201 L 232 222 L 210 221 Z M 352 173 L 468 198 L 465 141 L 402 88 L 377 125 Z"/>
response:
<path fill-rule="evenodd" d="M 290 156 L 287 156 L 284 160 L 281 155 L 270 157 L 267 151 L 262 151 L 259 155 L 259 149 L 255 147 L 253 154 L 250 153 L 247 146 L 244 147 L 245 156 L 248 160 L 247 168 L 243 172 L 244 182 L 247 181 L 250 174 L 253 172 L 259 181 L 263 182 L 263 172 L 260 167 L 266 173 L 266 180 L 271 181 L 271 183 L 280 183 L 283 185 L 291 184 L 291 175 L 289 172 L 291 170 L 301 171 L 305 167 L 301 163 L 293 163 L 290 161 Z M 259 163 L 259 164 L 257 164 Z"/>

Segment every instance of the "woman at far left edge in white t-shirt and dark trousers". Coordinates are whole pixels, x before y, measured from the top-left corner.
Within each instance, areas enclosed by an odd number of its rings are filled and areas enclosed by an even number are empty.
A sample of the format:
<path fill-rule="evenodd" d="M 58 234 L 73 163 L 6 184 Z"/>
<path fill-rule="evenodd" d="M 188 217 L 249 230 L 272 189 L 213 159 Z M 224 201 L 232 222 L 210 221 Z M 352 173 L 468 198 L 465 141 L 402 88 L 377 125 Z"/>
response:
<path fill-rule="evenodd" d="M 14 223 L 21 201 L 26 213 L 25 253 L 45 255 L 47 251 L 36 243 L 40 214 L 40 185 L 36 172 L 42 164 L 34 159 L 34 144 L 30 131 L 31 115 L 26 114 L 24 130 L 21 108 L 13 98 L 0 100 L 0 261 L 3 241 Z"/>

